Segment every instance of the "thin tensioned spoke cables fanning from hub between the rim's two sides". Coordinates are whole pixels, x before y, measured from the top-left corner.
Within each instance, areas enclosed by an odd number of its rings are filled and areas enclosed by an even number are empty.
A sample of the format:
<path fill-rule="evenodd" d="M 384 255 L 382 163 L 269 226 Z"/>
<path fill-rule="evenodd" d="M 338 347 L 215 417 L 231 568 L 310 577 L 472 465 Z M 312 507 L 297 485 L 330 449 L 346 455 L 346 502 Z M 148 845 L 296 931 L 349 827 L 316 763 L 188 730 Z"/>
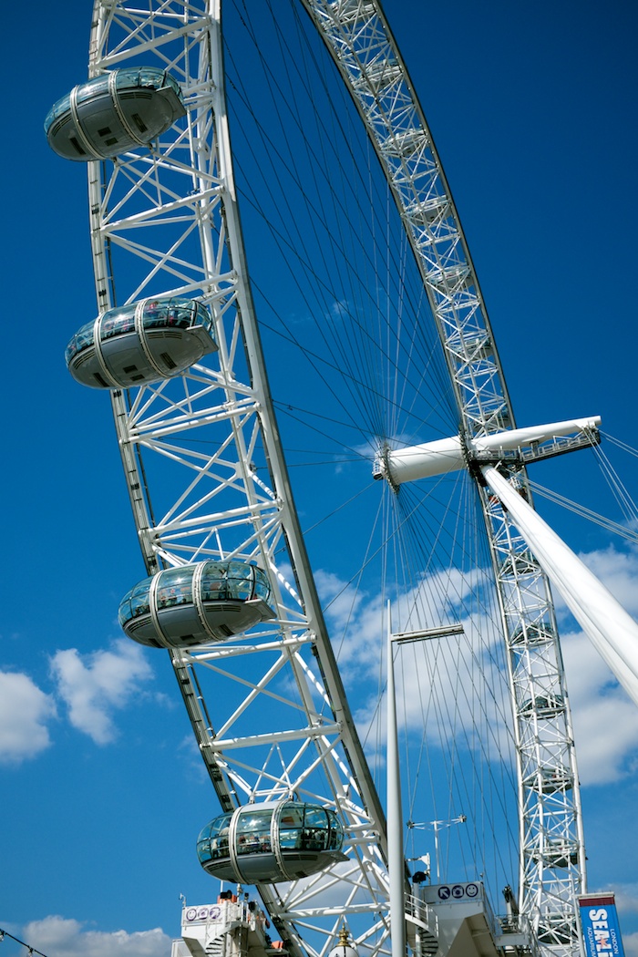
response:
<path fill-rule="evenodd" d="M 297 12 L 292 15 L 298 46 L 282 57 L 281 76 L 272 60 L 292 42 L 282 11 L 271 21 L 263 10 L 238 8 L 248 40 L 244 34 L 234 43 L 237 27 L 231 23 L 227 49 L 238 189 L 258 316 L 269 361 L 275 360 L 275 403 L 284 437 L 290 435 L 293 476 L 302 473 L 297 481 L 302 516 L 306 485 L 319 481 L 322 491 L 327 487 L 331 493 L 327 513 L 315 511 L 313 502 L 312 520 L 304 523 L 312 529 L 310 545 L 318 543 L 320 563 L 335 528 L 330 519 L 357 523 L 357 510 L 348 503 L 367 505 L 368 530 L 361 542 L 354 534 L 348 541 L 350 570 L 345 561 L 333 562 L 339 570 L 324 609 L 346 686 L 358 688 L 360 710 L 367 715 L 363 737 L 374 776 L 381 782 L 384 773 L 384 732 L 377 720 L 385 687 L 378 609 L 391 597 L 407 628 L 420 618 L 432 623 L 442 616 L 461 618 L 467 634 L 420 649 L 420 670 L 414 660 L 406 671 L 407 677 L 419 676 L 409 707 L 404 696 L 410 816 L 424 790 L 430 791 L 431 807 L 425 813 L 434 818 L 449 816 L 447 802 L 454 795 L 477 831 L 471 840 L 463 835 L 457 866 L 468 879 L 491 867 L 503 876 L 498 880 L 514 882 L 516 782 L 507 759 L 513 742 L 510 704 L 502 692 L 506 665 L 496 640 L 489 548 L 472 483 L 447 478 L 427 490 L 402 488 L 398 496 L 385 486 L 378 504 L 381 485 L 370 483 L 375 441 L 411 444 L 458 428 L 423 282 L 371 147 L 357 144 L 359 118 Z M 228 24 L 230 13 L 226 16 Z M 251 42 L 252 56 L 246 53 Z M 235 62 L 233 49 L 242 50 L 241 60 Z M 337 119 L 324 118 L 325 94 L 337 107 Z M 269 101 L 272 110 L 266 109 Z M 293 130 L 286 135 L 289 121 Z M 258 167 L 256 157 L 262 158 Z M 289 174 L 292 186 L 280 189 Z M 283 309 L 280 297 L 275 306 L 284 281 L 278 280 L 279 271 L 296 289 L 294 302 L 283 300 Z M 313 402 L 297 367 L 309 375 L 312 370 L 313 381 L 319 378 L 325 389 L 312 393 Z M 312 452 L 313 442 L 319 454 Z M 439 778 L 440 788 L 423 784 L 428 771 Z"/>

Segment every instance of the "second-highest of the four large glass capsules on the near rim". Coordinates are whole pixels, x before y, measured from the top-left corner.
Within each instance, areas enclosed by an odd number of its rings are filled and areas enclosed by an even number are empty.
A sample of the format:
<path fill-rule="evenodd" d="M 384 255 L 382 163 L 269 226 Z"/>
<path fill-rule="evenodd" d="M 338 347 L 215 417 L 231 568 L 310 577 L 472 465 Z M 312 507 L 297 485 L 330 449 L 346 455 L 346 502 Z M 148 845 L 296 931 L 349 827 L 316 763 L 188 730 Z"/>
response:
<path fill-rule="evenodd" d="M 74 379 L 127 389 L 179 375 L 214 352 L 212 320 L 197 300 L 161 298 L 109 309 L 83 325 L 64 356 Z"/>

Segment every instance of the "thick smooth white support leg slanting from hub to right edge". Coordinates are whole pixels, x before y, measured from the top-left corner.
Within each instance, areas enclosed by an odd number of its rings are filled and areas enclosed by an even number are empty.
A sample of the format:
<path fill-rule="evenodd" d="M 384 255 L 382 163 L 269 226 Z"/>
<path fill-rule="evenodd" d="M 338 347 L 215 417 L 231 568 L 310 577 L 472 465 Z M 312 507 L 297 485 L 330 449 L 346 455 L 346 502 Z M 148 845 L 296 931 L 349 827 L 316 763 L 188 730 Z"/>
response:
<path fill-rule="evenodd" d="M 494 466 L 481 472 L 583 632 L 638 704 L 638 624 Z"/>

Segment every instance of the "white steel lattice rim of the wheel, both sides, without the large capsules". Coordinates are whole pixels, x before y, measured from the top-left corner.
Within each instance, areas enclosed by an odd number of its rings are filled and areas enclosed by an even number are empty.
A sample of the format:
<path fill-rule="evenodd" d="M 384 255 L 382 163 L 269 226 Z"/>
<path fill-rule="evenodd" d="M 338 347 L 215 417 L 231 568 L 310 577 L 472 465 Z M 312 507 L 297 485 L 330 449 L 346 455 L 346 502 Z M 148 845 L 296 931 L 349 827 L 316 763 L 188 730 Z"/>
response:
<path fill-rule="evenodd" d="M 373 0 L 303 2 L 352 93 L 405 224 L 445 348 L 461 441 L 512 429 L 472 260 L 385 17 Z M 328 803 L 344 822 L 346 863 L 260 888 L 275 926 L 295 954 L 319 955 L 346 920 L 360 953 L 374 954 L 387 950 L 389 934 L 385 820 L 280 447 L 237 211 L 220 24 L 220 0 L 95 3 L 90 76 L 129 63 L 161 64 L 180 82 L 187 105 L 185 120 L 150 149 L 89 164 L 99 309 L 146 296 L 197 296 L 209 305 L 219 344 L 209 365 L 112 392 L 116 428 L 147 571 L 237 557 L 265 568 L 274 586 L 274 622 L 171 657 L 223 809 L 293 793 Z M 385 436 L 380 458 L 390 451 Z M 520 459 L 506 473 L 529 498 Z M 584 850 L 556 621 L 538 564 L 499 502 L 483 483 L 477 487 L 509 648 L 520 909 L 548 951 L 573 954 Z M 225 711 L 216 724 L 198 673 L 224 682 Z M 435 930 L 425 908 L 416 917 Z"/>

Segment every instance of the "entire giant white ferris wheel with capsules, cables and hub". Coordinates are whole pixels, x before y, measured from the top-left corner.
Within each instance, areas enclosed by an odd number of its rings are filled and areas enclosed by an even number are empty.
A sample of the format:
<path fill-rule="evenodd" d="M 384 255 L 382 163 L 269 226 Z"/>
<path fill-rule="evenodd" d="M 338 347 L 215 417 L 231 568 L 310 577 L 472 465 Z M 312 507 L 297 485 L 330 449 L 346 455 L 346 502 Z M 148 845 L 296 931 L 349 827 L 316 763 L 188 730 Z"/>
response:
<path fill-rule="evenodd" d="M 113 405 L 147 575 L 122 626 L 169 651 L 220 804 L 198 844 L 209 873 L 257 886 L 296 957 L 344 924 L 373 957 L 390 940 L 384 742 L 361 690 L 383 691 L 390 600 L 406 766 L 430 771 L 425 800 L 409 778 L 408 941 L 439 946 L 424 888 L 481 880 L 492 900 L 517 887 L 530 947 L 571 955 L 576 758 L 517 506 L 526 466 L 596 444 L 598 421 L 515 428 L 383 11 L 302 6 L 290 34 L 243 9 L 223 33 L 218 2 L 96 0 L 89 80 L 47 119 L 88 163 L 99 316 L 67 361 Z M 282 92 L 265 52 L 293 36 L 305 54 Z M 337 119 L 319 120 L 319 94 Z"/>

